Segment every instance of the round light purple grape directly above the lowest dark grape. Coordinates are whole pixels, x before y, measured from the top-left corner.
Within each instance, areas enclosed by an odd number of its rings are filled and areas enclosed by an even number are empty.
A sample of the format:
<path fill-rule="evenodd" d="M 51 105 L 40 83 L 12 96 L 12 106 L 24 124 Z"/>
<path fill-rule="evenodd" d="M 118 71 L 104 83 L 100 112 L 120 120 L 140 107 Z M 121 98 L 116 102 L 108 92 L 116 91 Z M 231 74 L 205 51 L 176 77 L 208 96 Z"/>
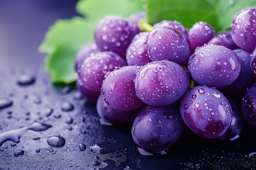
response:
<path fill-rule="evenodd" d="M 188 87 L 188 73 L 179 64 L 168 60 L 153 61 L 141 66 L 135 78 L 137 95 L 151 106 L 176 102 Z"/>

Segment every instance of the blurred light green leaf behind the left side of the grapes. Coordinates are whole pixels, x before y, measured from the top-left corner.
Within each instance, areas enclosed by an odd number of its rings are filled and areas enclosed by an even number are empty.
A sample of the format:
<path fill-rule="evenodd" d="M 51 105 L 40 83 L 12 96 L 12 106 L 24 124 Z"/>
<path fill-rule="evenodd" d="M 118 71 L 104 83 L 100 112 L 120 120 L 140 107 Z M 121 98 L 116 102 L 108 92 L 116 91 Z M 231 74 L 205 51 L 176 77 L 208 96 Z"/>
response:
<path fill-rule="evenodd" d="M 106 15 L 128 15 L 143 11 L 141 0 L 80 0 L 76 10 L 84 17 L 57 20 L 45 34 L 38 51 L 46 53 L 45 68 L 53 83 L 70 84 L 76 81 L 76 53 L 94 41 L 94 28 Z"/>

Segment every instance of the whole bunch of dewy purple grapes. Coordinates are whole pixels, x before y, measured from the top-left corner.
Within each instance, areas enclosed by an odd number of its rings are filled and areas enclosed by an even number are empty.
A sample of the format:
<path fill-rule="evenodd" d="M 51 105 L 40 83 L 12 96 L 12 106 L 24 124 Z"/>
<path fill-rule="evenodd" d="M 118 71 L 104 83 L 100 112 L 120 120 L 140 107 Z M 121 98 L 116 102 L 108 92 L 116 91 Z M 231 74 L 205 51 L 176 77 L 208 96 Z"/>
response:
<path fill-rule="evenodd" d="M 163 20 L 141 30 L 144 12 L 107 15 L 94 42 L 76 56 L 76 87 L 108 123 L 132 122 L 139 149 L 168 149 L 187 126 L 231 140 L 256 128 L 256 8 L 239 11 L 230 30 L 206 22 L 186 28 Z"/>

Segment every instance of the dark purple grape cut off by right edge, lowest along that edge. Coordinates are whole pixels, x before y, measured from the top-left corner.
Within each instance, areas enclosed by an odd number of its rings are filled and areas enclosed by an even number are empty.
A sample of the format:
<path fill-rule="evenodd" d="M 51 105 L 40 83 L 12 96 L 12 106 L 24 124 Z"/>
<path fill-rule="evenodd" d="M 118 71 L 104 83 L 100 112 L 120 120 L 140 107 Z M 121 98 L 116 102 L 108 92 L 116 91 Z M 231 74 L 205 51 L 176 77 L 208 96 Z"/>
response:
<path fill-rule="evenodd" d="M 243 95 L 241 107 L 247 124 L 256 128 L 256 83 L 248 87 Z"/>

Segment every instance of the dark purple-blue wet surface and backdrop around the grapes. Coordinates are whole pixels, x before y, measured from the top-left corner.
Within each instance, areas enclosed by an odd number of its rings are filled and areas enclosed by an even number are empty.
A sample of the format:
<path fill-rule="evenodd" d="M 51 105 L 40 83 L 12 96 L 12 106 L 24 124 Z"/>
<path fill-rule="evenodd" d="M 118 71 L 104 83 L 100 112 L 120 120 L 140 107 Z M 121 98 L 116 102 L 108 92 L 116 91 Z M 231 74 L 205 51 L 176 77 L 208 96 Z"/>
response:
<path fill-rule="evenodd" d="M 12 101 L 0 109 L 0 141 L 4 132 L 20 136 L 20 142 L 12 139 L 0 146 L 1 170 L 255 169 L 256 157 L 249 157 L 256 152 L 255 129 L 245 126 L 235 141 L 203 139 L 185 129 L 168 154 L 143 156 L 132 141 L 131 124 L 101 125 L 94 103 L 77 97 L 72 86 L 52 84 L 38 46 L 57 19 L 77 15 L 75 4 L 72 0 L 0 0 L 0 99 Z M 33 75 L 35 82 L 19 85 L 23 74 Z M 74 109 L 63 111 L 66 102 Z M 50 126 L 38 129 L 30 126 L 34 122 Z M 12 129 L 18 130 L 8 131 Z M 50 146 L 47 139 L 52 136 L 63 137 L 65 145 Z M 102 148 L 101 154 L 90 150 L 95 144 Z"/>

